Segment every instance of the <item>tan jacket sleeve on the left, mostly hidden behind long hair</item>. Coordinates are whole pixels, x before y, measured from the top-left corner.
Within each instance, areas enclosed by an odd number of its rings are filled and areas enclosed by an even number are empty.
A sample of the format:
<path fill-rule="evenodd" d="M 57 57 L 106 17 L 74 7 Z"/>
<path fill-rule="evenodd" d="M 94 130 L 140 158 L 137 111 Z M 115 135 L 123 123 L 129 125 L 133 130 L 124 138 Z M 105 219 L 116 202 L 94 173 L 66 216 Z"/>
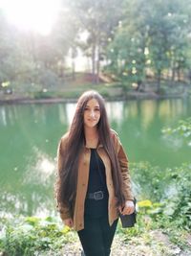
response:
<path fill-rule="evenodd" d="M 62 165 L 63 165 L 63 159 L 64 159 L 64 154 L 66 151 L 66 136 L 63 136 L 58 144 L 58 149 L 57 149 L 57 184 L 59 184 L 60 181 L 60 173 L 62 170 Z M 66 205 L 63 205 L 59 201 L 59 198 L 56 195 L 56 201 L 57 201 L 57 210 L 60 213 L 60 218 L 62 221 L 71 218 L 70 210 Z"/>

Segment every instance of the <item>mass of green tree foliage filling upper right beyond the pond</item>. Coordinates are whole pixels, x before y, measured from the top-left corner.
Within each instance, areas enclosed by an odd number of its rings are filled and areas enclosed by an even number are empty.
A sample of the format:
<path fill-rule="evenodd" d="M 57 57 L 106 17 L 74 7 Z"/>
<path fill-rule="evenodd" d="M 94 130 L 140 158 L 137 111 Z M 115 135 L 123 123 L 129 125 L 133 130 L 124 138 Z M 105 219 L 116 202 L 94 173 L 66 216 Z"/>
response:
<path fill-rule="evenodd" d="M 154 73 L 159 93 L 162 72 L 172 71 L 171 80 L 175 74 L 180 80 L 180 69 L 189 68 L 190 59 L 188 2 L 124 1 L 123 16 L 108 47 L 109 70 L 138 86 L 146 74 Z"/>

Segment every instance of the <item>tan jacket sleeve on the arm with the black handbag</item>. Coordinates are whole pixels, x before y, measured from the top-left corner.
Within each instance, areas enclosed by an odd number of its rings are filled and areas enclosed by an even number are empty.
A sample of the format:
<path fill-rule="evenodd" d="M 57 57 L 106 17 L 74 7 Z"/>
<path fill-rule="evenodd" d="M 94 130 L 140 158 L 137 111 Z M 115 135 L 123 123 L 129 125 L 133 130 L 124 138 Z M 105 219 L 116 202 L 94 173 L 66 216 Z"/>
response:
<path fill-rule="evenodd" d="M 125 197 L 125 200 L 134 200 L 134 195 L 132 192 L 131 177 L 129 173 L 128 158 L 122 147 L 122 144 L 120 143 L 120 140 L 118 138 L 116 131 L 114 132 L 113 136 L 115 141 L 115 147 L 117 149 L 118 163 L 119 163 L 120 171 L 122 175 L 123 195 Z"/>

